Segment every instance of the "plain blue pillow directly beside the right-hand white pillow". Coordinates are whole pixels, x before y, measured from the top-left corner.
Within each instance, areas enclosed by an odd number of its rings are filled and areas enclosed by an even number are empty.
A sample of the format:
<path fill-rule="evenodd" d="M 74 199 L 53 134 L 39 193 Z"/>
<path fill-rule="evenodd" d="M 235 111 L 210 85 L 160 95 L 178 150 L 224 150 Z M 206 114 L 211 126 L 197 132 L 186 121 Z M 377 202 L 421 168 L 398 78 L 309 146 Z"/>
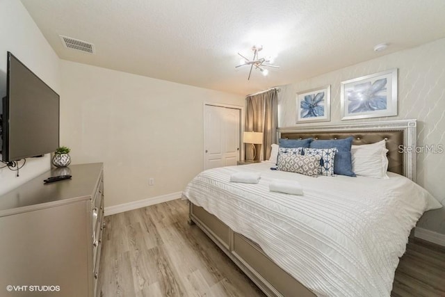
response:
<path fill-rule="evenodd" d="M 353 139 L 354 138 L 351 136 L 345 139 L 336 139 L 332 141 L 312 141 L 309 147 L 318 149 L 336 147 L 337 154 L 335 154 L 334 159 L 334 173 L 336 175 L 355 177 L 350 154 L 350 147 L 353 144 Z"/>

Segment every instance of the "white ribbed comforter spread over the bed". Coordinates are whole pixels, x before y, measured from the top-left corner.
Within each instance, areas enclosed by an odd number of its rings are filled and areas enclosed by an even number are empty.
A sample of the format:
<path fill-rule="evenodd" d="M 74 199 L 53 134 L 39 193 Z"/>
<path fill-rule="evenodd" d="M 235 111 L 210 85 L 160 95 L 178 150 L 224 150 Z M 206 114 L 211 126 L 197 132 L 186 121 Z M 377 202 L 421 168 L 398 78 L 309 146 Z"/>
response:
<path fill-rule="evenodd" d="M 424 211 L 442 205 L 401 175 L 307 177 L 270 163 L 197 175 L 184 197 L 256 242 L 317 296 L 389 296 L 398 258 Z M 261 171 L 259 184 L 231 183 Z M 298 181 L 304 195 L 269 191 L 273 179 Z"/>

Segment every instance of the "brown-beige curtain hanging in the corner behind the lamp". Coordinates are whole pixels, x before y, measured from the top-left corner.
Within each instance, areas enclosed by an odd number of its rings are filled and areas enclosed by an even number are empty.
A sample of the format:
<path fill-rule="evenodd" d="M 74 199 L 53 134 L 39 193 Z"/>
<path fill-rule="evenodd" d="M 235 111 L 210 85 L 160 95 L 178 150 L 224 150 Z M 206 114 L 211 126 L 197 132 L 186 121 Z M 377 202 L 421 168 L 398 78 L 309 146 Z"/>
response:
<path fill-rule="evenodd" d="M 267 160 L 273 143 L 277 143 L 278 99 L 277 89 L 268 90 L 245 98 L 247 113 L 245 115 L 245 131 L 263 132 L 263 144 L 255 145 L 255 160 Z M 248 153 L 249 150 L 246 150 Z"/>

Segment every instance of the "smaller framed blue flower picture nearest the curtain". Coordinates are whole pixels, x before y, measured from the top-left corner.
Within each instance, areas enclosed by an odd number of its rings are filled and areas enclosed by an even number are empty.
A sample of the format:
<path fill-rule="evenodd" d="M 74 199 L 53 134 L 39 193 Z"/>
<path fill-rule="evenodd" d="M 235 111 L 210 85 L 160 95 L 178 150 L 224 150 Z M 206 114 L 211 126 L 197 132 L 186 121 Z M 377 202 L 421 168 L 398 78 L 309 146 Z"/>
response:
<path fill-rule="evenodd" d="M 331 86 L 297 93 L 297 124 L 329 122 L 331 119 Z"/>

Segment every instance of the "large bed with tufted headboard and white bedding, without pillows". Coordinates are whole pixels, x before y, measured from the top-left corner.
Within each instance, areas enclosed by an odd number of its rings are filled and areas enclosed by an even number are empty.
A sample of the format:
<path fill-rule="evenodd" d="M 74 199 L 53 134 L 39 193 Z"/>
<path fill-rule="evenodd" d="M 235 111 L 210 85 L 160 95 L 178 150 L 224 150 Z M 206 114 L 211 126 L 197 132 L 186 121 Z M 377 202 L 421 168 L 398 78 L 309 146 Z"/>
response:
<path fill-rule="evenodd" d="M 401 153 L 400 145 L 415 145 L 416 121 L 285 128 L 278 136 L 385 139 L 389 179 L 313 178 L 270 170 L 270 163 L 214 168 L 184 191 L 190 222 L 267 296 L 389 296 L 410 230 L 423 211 L 437 207 L 412 182 L 415 155 Z M 229 182 L 243 170 L 261 172 L 259 184 Z M 268 192 L 274 179 L 297 179 L 305 195 Z"/>

